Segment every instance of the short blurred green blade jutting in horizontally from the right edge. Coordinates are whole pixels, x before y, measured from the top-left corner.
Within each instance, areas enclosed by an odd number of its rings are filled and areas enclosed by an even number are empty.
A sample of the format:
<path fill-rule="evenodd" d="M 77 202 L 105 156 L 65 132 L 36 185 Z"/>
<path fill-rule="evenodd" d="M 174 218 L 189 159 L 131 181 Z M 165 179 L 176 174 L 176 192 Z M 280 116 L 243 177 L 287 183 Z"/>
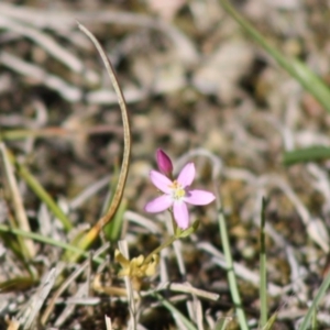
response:
<path fill-rule="evenodd" d="M 328 158 L 330 158 L 330 147 L 315 145 L 284 153 L 283 164 L 289 166 L 296 163 L 317 162 Z"/>

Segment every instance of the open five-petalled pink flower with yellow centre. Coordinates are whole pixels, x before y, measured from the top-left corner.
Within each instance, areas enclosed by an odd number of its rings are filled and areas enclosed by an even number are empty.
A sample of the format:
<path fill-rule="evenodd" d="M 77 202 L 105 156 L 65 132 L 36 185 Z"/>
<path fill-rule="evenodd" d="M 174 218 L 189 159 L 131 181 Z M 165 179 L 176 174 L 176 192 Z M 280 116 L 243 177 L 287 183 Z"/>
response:
<path fill-rule="evenodd" d="M 194 163 L 188 163 L 174 182 L 160 172 L 151 170 L 152 183 L 164 195 L 147 202 L 144 210 L 150 213 L 157 213 L 172 208 L 177 226 L 187 229 L 189 227 L 189 212 L 186 204 L 208 205 L 216 199 L 212 193 L 190 189 L 195 174 Z"/>

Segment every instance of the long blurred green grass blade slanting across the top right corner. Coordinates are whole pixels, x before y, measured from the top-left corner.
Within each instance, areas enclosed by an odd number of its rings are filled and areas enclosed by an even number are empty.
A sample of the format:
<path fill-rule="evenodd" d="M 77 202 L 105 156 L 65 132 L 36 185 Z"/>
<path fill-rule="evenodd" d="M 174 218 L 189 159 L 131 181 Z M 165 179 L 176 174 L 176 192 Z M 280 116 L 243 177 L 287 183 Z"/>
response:
<path fill-rule="evenodd" d="M 308 90 L 330 112 L 330 90 L 305 64 L 295 58 L 288 58 L 273 47 L 243 16 L 241 16 L 227 0 L 220 0 L 227 12 L 241 28 L 257 42 L 289 75 Z"/>

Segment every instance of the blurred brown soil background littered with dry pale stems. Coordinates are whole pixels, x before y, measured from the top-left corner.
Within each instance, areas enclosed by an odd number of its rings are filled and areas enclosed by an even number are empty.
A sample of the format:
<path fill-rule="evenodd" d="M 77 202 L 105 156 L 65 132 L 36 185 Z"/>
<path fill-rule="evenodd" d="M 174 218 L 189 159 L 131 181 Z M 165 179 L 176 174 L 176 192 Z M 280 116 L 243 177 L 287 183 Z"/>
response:
<path fill-rule="evenodd" d="M 280 52 L 299 57 L 329 81 L 328 1 L 232 3 Z M 196 185 L 212 190 L 216 170 L 233 257 L 241 266 L 238 277 L 243 305 L 253 329 L 257 329 L 260 315 L 255 276 L 261 198 L 268 198 L 270 311 L 278 314 L 273 329 L 296 329 L 327 266 L 330 163 L 285 167 L 282 157 L 296 147 L 329 146 L 330 118 L 246 37 L 216 0 L 0 3 L 0 136 L 67 210 L 76 232 L 65 234 L 18 178 L 32 230 L 69 242 L 86 226 L 94 224 L 102 213 L 108 183 L 116 179 L 122 158 L 116 94 L 99 55 L 76 21 L 95 33 L 108 52 L 128 102 L 133 145 L 121 238 L 128 240 L 131 255 L 151 252 L 165 232 L 164 215 L 143 212 L 145 202 L 156 194 L 148 180 L 156 148 L 162 147 L 176 160 L 177 170 L 194 160 Z M 3 170 L 0 179 L 0 222 L 10 224 L 13 211 Z M 96 183 L 102 188 L 79 200 L 81 193 Z M 139 216 L 152 220 L 155 231 L 141 226 Z M 166 270 L 162 272 L 169 282 L 188 282 L 220 295 L 215 301 L 197 299 L 202 320 L 198 329 L 212 329 L 221 318 L 231 320 L 228 329 L 238 329 L 226 271 L 212 250 L 221 251 L 215 205 L 194 208 L 191 218 L 199 218 L 201 223 L 193 238 L 182 242 L 185 272 L 178 268 L 172 250 L 162 256 Z M 29 273 L 8 248 L 8 235 L 1 233 L 0 240 L 1 283 Z M 35 245 L 33 267 L 42 277 L 59 263 L 63 250 Z M 92 248 L 100 245 L 97 242 Z M 116 243 L 109 251 L 110 266 L 102 271 L 92 266 L 91 277 L 102 273 L 106 283 L 116 277 L 114 249 Z M 68 276 L 78 265 L 64 267 Z M 98 298 L 97 304 L 74 305 L 59 321 L 67 299 L 88 280 L 80 276 L 66 290 L 47 329 L 106 329 L 105 315 L 111 317 L 113 329 L 125 328 L 125 300 L 96 292 L 87 296 Z M 148 285 L 158 283 L 156 277 Z M 118 285 L 122 285 L 120 280 Z M 7 329 L 6 317 L 24 314 L 36 288 L 37 284 L 23 289 L 13 285 L 0 292 L 0 329 Z M 196 315 L 193 307 L 193 312 L 187 310 L 187 301 L 195 301 L 190 295 L 167 293 L 167 298 L 177 298 L 177 308 L 188 318 Z M 141 329 L 177 329 L 170 314 L 154 307 L 154 302 L 150 297 L 142 300 L 140 322 L 145 328 Z M 328 311 L 329 297 L 319 306 L 319 329 L 330 328 Z"/>

